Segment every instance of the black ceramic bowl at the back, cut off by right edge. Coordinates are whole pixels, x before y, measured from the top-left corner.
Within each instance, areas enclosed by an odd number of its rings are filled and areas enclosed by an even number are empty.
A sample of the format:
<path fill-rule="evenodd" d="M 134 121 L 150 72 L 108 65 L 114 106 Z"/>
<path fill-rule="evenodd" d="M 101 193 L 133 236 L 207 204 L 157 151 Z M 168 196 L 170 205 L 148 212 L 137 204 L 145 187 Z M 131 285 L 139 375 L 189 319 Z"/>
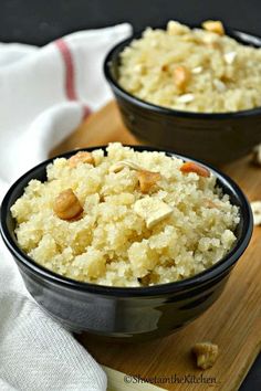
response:
<path fill-rule="evenodd" d="M 261 46 L 260 38 L 231 30 L 227 34 L 240 43 Z M 223 114 L 181 112 L 146 103 L 123 89 L 117 83 L 119 54 L 137 38 L 140 33 L 113 47 L 105 59 L 104 73 L 124 124 L 138 140 L 216 166 L 249 154 L 261 142 L 261 107 Z"/>

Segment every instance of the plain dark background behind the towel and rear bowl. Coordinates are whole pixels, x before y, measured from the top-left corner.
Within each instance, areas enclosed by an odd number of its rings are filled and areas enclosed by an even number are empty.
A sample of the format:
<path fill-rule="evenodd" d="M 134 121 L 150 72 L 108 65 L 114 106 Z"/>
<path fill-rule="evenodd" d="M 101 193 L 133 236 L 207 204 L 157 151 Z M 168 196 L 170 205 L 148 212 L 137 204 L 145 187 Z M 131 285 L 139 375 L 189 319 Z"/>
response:
<path fill-rule="evenodd" d="M 0 42 L 43 45 L 72 31 L 130 22 L 135 30 L 169 19 L 206 19 L 261 36 L 261 0 L 0 0 Z M 261 356 L 240 391 L 261 390 Z"/>

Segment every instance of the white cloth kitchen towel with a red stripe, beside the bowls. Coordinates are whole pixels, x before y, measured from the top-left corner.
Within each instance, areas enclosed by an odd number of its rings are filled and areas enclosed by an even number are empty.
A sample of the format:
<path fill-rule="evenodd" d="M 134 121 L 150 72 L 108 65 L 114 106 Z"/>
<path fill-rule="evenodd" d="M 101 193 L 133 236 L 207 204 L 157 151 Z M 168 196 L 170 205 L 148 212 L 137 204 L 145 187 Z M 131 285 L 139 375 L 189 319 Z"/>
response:
<path fill-rule="evenodd" d="M 82 31 L 44 47 L 0 44 L 0 199 L 22 172 L 111 98 L 102 65 L 129 24 Z M 106 390 L 106 377 L 27 293 L 0 242 L 0 390 Z"/>

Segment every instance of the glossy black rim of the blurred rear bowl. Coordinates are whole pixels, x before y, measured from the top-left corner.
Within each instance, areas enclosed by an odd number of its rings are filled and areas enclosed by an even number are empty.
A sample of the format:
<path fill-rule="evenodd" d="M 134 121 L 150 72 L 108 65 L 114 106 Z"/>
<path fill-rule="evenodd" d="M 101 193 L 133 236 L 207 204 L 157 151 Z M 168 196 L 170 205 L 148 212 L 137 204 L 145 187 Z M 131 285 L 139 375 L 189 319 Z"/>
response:
<path fill-rule="evenodd" d="M 187 23 L 186 25 L 190 28 L 199 28 L 199 25 L 194 25 Z M 161 29 L 160 27 L 153 27 L 153 29 Z M 143 30 L 144 31 L 144 30 Z M 109 52 L 107 53 L 104 64 L 103 64 L 103 72 L 105 75 L 106 81 L 108 84 L 111 84 L 112 88 L 123 98 L 129 101 L 132 104 L 137 105 L 142 107 L 143 109 L 146 110 L 153 110 L 154 113 L 161 114 L 161 115 L 167 115 L 167 116 L 176 116 L 176 117 L 184 117 L 184 118 L 194 118 L 194 119 L 230 119 L 230 118 L 240 118 L 240 117 L 249 117 L 252 115 L 261 115 L 261 106 L 250 108 L 250 109 L 244 109 L 244 110 L 239 110 L 239 112 L 225 112 L 225 113 L 198 113 L 198 112 L 186 112 L 186 110 L 178 110 L 175 108 L 168 108 L 164 106 L 159 106 L 146 101 L 143 101 L 130 93 L 128 93 L 126 89 L 121 87 L 121 85 L 117 83 L 117 81 L 113 77 L 112 72 L 111 72 L 111 64 L 112 61 L 115 60 L 115 56 L 117 57 L 118 54 L 135 39 L 140 38 L 143 31 L 135 32 L 133 33 L 132 36 L 118 42 L 115 46 L 113 46 Z M 260 44 L 261 47 L 261 36 L 259 35 L 253 35 L 240 30 L 233 30 L 233 29 L 227 29 L 226 28 L 226 34 L 231 36 L 232 39 L 239 41 L 240 43 L 248 42 L 247 45 L 251 46 L 250 40 L 255 42 L 255 46 L 258 46 L 258 43 Z"/>

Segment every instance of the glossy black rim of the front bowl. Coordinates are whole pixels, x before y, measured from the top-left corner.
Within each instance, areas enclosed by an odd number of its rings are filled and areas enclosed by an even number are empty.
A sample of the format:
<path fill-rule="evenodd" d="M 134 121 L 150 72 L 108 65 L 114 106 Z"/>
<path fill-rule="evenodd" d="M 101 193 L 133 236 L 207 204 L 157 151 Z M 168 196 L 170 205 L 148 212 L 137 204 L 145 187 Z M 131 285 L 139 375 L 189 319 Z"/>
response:
<path fill-rule="evenodd" d="M 166 284 L 158 284 L 158 285 L 153 285 L 153 286 L 146 286 L 146 287 L 121 287 L 121 286 L 106 286 L 106 285 L 98 285 L 98 284 L 92 284 L 92 283 L 84 283 L 84 282 L 79 282 L 76 279 L 72 279 L 62 275 L 59 275 L 52 271 L 49 271 L 44 266 L 41 266 L 38 264 L 33 258 L 31 258 L 25 252 L 23 252 L 18 243 L 13 240 L 8 224 L 7 224 L 7 219 L 10 214 L 9 210 L 9 200 L 13 192 L 17 190 L 17 188 L 20 186 L 21 182 L 24 180 L 29 182 L 32 178 L 31 175 L 39 169 L 43 169 L 45 171 L 45 168 L 49 163 L 53 162 L 54 159 L 56 158 L 69 158 L 70 156 L 76 154 L 79 150 L 86 150 L 86 151 L 93 151 L 95 149 L 103 149 L 107 147 L 107 145 L 104 146 L 96 146 L 96 147 L 88 147 L 88 148 L 80 148 L 75 150 L 70 150 L 67 152 L 58 155 L 53 158 L 46 159 L 42 161 L 41 163 L 36 165 L 25 173 L 23 173 L 8 190 L 6 193 L 2 204 L 1 204 L 1 218 L 0 218 L 0 233 L 2 235 L 3 242 L 6 243 L 7 247 L 9 249 L 10 253 L 13 255 L 15 261 L 19 261 L 22 266 L 24 266 L 27 270 L 29 270 L 31 273 L 36 275 L 38 278 L 43 278 L 48 279 L 51 283 L 59 284 L 62 286 L 65 286 L 67 288 L 72 289 L 80 289 L 82 292 L 87 292 L 87 293 L 95 293 L 100 295 L 106 295 L 106 296 L 118 296 L 118 297 L 140 297 L 140 296 L 160 296 L 165 295 L 167 293 L 179 293 L 184 292 L 184 289 L 189 289 L 189 288 L 196 288 L 199 285 L 203 283 L 209 283 L 212 278 L 217 278 L 221 274 L 223 274 L 226 271 L 228 271 L 233 264 L 239 260 L 239 257 L 242 255 L 244 250 L 247 249 L 252 231 L 253 231 L 253 216 L 251 212 L 251 208 L 249 204 L 249 201 L 247 200 L 246 196 L 243 194 L 242 190 L 239 188 L 239 186 L 227 175 L 220 172 L 218 169 L 213 168 L 211 165 L 206 165 L 199 159 L 194 159 L 188 156 L 179 155 L 174 152 L 170 149 L 166 148 L 157 148 L 157 147 L 150 147 L 150 146 L 132 146 L 132 145 L 124 145 L 125 147 L 132 147 L 136 151 L 158 151 L 158 152 L 166 152 L 168 156 L 181 158 L 182 160 L 187 161 L 195 161 L 200 163 L 201 166 L 208 168 L 212 173 L 215 173 L 220 181 L 221 186 L 226 188 L 230 188 L 234 194 L 236 198 L 238 199 L 239 203 L 241 204 L 241 219 L 243 219 L 243 224 L 242 224 L 242 233 L 241 236 L 237 239 L 236 244 L 229 251 L 228 254 L 226 254 L 220 261 L 218 261 L 215 265 L 205 270 L 203 272 L 200 272 L 196 274 L 192 277 L 185 278 L 178 282 L 170 282 Z M 24 187 L 23 187 L 24 189 Z"/>

